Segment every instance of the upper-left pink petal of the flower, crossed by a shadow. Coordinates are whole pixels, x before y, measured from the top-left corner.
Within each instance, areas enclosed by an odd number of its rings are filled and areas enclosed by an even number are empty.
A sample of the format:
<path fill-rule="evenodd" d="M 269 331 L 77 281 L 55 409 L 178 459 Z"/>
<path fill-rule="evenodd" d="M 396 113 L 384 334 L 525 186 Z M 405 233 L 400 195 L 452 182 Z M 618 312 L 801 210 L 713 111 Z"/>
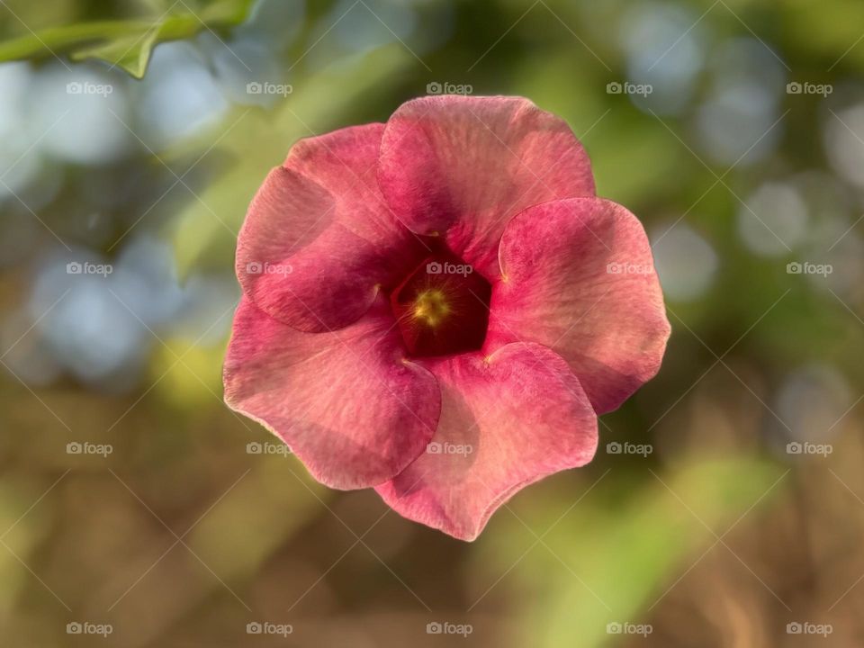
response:
<path fill-rule="evenodd" d="M 249 206 L 237 275 L 257 307 L 304 331 L 340 329 L 419 261 L 375 170 L 383 124 L 297 142 Z"/>

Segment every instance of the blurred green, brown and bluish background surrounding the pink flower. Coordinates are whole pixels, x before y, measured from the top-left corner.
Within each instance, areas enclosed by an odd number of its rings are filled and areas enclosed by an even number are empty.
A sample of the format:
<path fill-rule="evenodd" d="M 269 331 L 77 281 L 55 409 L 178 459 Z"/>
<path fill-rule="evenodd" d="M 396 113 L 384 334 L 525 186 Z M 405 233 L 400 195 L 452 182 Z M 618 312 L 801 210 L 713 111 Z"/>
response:
<path fill-rule="evenodd" d="M 864 644 L 864 4 L 0 0 L 0 36 L 0 644 Z M 673 329 L 473 544 L 221 402 L 266 171 L 439 93 L 571 124 Z"/>

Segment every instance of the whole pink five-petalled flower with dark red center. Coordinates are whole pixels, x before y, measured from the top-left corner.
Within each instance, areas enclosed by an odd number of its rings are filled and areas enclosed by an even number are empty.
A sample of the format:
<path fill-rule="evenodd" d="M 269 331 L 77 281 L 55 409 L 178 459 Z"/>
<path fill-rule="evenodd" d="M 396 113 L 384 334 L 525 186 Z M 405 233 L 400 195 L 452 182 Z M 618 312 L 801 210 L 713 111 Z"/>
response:
<path fill-rule="evenodd" d="M 644 229 L 567 124 L 435 96 L 294 145 L 240 232 L 229 407 L 320 482 L 464 540 L 587 464 L 670 327 Z"/>

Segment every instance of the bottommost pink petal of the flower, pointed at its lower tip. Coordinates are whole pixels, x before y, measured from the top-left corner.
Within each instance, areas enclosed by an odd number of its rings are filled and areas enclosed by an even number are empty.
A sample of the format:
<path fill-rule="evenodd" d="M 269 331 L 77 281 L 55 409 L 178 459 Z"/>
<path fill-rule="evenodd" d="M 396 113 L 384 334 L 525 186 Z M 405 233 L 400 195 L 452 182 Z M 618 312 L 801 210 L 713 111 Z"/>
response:
<path fill-rule="evenodd" d="M 443 395 L 435 437 L 376 489 L 405 518 L 473 540 L 517 491 L 594 455 L 597 417 L 579 380 L 549 349 L 517 343 L 487 358 L 425 364 Z"/>

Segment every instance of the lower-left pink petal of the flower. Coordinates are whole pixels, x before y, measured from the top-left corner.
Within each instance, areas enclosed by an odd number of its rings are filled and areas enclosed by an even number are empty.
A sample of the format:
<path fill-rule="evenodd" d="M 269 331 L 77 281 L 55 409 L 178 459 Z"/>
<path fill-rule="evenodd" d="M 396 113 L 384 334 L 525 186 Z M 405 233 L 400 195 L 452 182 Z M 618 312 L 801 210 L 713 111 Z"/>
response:
<path fill-rule="evenodd" d="M 368 488 L 410 464 L 437 425 L 437 381 L 404 357 L 383 297 L 345 329 L 303 333 L 244 296 L 225 359 L 225 401 L 283 439 L 319 482 Z"/>

